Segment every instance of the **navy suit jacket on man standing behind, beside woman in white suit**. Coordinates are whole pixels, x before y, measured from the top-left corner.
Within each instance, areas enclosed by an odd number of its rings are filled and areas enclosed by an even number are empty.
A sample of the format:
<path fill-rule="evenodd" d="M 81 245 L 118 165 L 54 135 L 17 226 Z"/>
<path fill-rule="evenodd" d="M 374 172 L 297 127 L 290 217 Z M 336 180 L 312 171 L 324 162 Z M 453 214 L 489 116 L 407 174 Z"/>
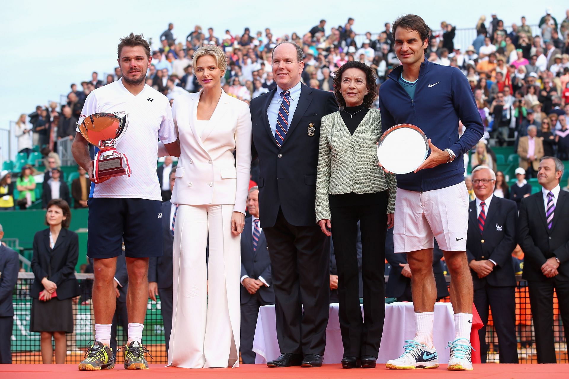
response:
<path fill-rule="evenodd" d="M 267 304 L 275 302 L 273 282 L 271 281 L 271 260 L 269 257 L 269 247 L 265 233 L 261 230 L 257 250 L 253 251 L 253 217 L 245 219 L 245 228 L 241 234 L 241 277 L 249 276 L 251 279 L 258 279 L 262 276 L 270 287 L 262 286 L 257 290 L 261 300 Z M 241 286 L 241 304 L 249 301 L 251 294 Z"/>

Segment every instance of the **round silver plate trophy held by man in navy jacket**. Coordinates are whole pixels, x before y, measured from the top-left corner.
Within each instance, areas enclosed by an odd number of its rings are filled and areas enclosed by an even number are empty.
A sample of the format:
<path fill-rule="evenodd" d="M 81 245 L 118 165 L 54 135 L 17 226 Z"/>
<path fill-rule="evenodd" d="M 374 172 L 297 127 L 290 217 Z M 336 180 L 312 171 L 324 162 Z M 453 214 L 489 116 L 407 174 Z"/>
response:
<path fill-rule="evenodd" d="M 411 124 L 389 128 L 377 144 L 377 159 L 389 172 L 407 174 L 417 169 L 428 155 L 427 136 Z"/>

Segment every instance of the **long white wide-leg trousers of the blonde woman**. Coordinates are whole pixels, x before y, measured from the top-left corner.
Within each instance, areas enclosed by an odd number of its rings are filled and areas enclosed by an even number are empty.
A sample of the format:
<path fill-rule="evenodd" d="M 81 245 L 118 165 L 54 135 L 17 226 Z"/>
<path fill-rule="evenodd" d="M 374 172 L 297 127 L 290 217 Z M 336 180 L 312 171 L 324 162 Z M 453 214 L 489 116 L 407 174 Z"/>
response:
<path fill-rule="evenodd" d="M 178 206 L 168 365 L 185 368 L 239 365 L 241 236 L 231 234 L 233 207 Z M 209 276 L 206 276 L 208 235 Z"/>

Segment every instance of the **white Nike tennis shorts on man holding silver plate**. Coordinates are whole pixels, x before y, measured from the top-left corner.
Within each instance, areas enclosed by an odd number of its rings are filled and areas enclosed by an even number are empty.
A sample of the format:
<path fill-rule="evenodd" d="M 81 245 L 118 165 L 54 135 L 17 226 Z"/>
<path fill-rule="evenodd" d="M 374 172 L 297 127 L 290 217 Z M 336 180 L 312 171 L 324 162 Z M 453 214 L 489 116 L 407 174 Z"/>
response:
<path fill-rule="evenodd" d="M 443 251 L 466 251 L 468 191 L 464 182 L 425 191 L 397 189 L 393 247 L 408 253 L 433 247 L 433 237 Z"/>

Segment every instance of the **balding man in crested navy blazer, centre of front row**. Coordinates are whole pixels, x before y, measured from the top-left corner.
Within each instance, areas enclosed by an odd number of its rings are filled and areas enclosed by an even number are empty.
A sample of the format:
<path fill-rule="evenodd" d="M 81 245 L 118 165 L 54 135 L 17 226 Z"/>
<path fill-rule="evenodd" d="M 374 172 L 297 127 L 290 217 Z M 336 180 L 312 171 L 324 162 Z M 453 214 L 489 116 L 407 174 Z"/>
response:
<path fill-rule="evenodd" d="M 326 344 L 329 254 L 316 224 L 316 167 L 320 120 L 338 105 L 331 92 L 300 82 L 302 56 L 295 43 L 279 43 L 271 56 L 277 88 L 250 107 L 281 349 L 270 367 L 321 366 Z"/>

